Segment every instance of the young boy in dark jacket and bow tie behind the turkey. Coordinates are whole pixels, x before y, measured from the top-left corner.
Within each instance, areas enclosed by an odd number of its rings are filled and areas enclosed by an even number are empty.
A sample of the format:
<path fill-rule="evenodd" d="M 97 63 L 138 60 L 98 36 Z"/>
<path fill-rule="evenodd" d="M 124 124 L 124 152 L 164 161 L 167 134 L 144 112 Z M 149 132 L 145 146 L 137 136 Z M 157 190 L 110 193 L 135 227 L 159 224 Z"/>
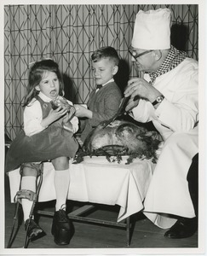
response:
<path fill-rule="evenodd" d="M 111 119 L 118 112 L 122 99 L 121 90 L 113 79 L 113 76 L 118 73 L 119 58 L 116 49 L 109 46 L 97 49 L 91 59 L 97 87 L 89 96 L 88 108 L 78 104 L 74 105 L 76 116 L 86 118 L 81 134 L 82 142 L 101 121 Z"/>

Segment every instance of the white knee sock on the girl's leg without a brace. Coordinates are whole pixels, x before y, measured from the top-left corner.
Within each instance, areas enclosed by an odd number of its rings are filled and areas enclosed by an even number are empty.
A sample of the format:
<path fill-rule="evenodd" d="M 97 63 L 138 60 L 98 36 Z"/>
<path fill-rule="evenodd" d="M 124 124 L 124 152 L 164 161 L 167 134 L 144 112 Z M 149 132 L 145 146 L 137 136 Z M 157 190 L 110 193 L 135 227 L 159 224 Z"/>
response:
<path fill-rule="evenodd" d="M 66 198 L 69 188 L 69 169 L 62 171 L 55 171 L 55 192 L 56 192 L 56 205 L 55 211 L 60 208 L 66 207 Z"/>

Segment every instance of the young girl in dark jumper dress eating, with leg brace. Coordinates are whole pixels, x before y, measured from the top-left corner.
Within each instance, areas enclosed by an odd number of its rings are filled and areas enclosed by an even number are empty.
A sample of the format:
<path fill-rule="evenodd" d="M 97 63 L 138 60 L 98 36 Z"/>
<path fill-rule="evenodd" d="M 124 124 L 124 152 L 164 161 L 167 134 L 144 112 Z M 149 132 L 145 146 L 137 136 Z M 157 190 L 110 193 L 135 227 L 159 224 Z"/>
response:
<path fill-rule="evenodd" d="M 72 236 L 72 223 L 66 215 L 68 160 L 78 150 L 78 143 L 73 137 L 73 133 L 78 131 L 78 118 L 74 117 L 72 102 L 61 103 L 62 95 L 63 83 L 58 65 L 52 60 L 37 61 L 29 73 L 24 131 L 14 139 L 6 159 L 6 172 L 23 166 L 20 189 L 34 193 L 37 181 L 37 168 L 34 166 L 37 162 L 51 160 L 55 168 L 56 192 L 52 234 L 58 245 L 68 244 Z M 53 101 L 59 102 L 60 106 L 53 109 Z M 32 201 L 22 199 L 21 204 L 28 237 L 37 239 L 44 232 L 33 218 L 30 223 L 28 221 Z"/>

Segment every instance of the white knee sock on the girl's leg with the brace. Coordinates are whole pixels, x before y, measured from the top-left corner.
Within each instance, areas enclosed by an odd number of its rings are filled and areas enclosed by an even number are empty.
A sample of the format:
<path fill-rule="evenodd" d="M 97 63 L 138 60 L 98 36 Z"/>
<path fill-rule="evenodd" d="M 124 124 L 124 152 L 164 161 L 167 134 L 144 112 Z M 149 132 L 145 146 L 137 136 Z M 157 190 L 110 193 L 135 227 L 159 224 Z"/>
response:
<path fill-rule="evenodd" d="M 28 189 L 36 192 L 36 179 L 34 176 L 23 176 L 21 180 L 20 189 Z M 21 205 L 24 212 L 24 221 L 30 216 L 33 201 L 28 199 L 22 199 Z"/>

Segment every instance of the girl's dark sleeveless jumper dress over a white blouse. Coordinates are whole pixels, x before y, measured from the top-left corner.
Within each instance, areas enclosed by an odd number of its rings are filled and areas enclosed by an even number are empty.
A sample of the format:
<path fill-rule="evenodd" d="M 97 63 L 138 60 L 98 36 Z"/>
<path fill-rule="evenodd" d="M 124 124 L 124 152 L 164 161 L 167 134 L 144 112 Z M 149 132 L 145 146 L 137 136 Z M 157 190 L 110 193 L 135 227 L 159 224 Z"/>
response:
<path fill-rule="evenodd" d="M 50 102 L 43 102 L 37 96 L 43 111 L 43 119 L 52 108 Z M 18 168 L 23 163 L 53 160 L 60 156 L 74 157 L 78 150 L 78 142 L 73 137 L 72 131 L 67 131 L 62 119 L 56 120 L 45 130 L 31 137 L 26 136 L 24 131 L 15 137 L 6 155 L 5 172 Z"/>

